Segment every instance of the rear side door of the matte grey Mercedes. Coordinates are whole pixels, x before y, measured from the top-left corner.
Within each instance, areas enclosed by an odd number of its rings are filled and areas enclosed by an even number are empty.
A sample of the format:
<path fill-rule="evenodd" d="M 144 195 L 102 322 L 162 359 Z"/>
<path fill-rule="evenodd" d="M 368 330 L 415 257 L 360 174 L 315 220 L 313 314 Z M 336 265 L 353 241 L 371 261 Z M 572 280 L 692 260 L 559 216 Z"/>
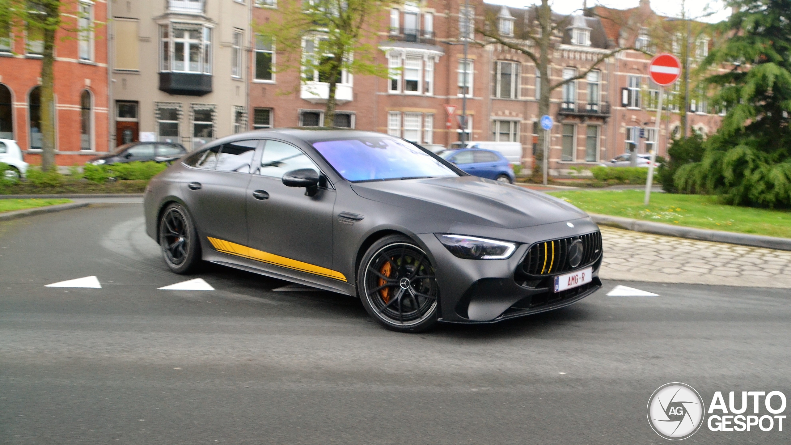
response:
<path fill-rule="evenodd" d="M 213 146 L 187 158 L 192 167 L 182 184 L 184 202 L 202 238 L 247 243 L 245 214 L 250 165 L 258 139 Z"/>

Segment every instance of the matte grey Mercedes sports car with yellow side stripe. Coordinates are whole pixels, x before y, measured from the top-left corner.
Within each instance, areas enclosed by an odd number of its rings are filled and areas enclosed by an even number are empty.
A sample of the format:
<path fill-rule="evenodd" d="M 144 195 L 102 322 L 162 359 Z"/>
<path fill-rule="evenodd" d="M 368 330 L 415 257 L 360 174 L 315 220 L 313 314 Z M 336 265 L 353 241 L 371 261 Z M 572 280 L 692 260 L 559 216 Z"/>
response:
<path fill-rule="evenodd" d="M 218 139 L 155 177 L 145 207 L 173 272 L 203 260 L 340 292 L 398 331 L 536 314 L 601 287 L 585 212 L 380 133 Z"/>

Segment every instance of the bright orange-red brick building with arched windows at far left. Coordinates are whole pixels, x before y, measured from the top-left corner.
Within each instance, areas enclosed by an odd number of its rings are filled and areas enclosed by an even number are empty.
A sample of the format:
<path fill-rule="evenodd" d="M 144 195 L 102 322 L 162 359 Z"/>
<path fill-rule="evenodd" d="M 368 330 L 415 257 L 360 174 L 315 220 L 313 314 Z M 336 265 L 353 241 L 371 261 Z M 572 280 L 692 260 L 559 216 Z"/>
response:
<path fill-rule="evenodd" d="M 55 161 L 83 164 L 108 150 L 107 3 L 74 2 L 84 18 L 55 37 Z M 70 4 L 67 4 L 70 6 Z M 40 164 L 43 32 L 0 29 L 0 138 L 16 139 L 25 161 Z"/>

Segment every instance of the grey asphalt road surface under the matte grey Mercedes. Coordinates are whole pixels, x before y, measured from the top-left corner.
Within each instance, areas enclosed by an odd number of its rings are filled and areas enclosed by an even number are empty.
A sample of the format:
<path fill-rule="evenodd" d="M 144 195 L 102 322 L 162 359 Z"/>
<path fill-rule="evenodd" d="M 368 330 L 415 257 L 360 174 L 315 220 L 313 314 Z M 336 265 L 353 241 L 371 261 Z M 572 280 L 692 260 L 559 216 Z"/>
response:
<path fill-rule="evenodd" d="M 44 287 L 82 276 L 102 288 Z M 157 290 L 191 277 L 168 272 L 139 203 L 0 223 L 0 443 L 668 443 L 645 418 L 664 383 L 706 405 L 791 396 L 788 290 L 607 282 L 548 314 L 407 335 L 343 295 L 197 276 L 216 291 Z"/>

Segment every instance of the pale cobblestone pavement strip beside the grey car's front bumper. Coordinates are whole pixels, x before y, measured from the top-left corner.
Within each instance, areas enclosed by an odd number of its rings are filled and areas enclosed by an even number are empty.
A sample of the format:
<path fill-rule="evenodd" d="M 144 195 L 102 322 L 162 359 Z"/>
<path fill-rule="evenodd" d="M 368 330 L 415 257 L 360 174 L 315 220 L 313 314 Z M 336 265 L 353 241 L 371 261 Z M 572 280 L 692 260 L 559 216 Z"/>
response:
<path fill-rule="evenodd" d="M 601 226 L 605 280 L 791 288 L 791 251 Z"/>

